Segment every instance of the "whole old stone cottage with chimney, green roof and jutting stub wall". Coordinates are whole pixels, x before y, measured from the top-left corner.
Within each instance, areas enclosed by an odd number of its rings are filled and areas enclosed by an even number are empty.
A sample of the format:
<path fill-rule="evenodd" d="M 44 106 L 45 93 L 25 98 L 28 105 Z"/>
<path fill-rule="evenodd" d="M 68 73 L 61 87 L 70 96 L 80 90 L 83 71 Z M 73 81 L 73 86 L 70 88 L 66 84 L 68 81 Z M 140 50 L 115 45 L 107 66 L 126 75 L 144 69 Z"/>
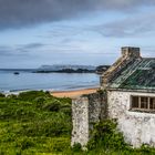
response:
<path fill-rule="evenodd" d="M 72 145 L 86 145 L 93 123 L 106 117 L 134 147 L 155 146 L 155 59 L 142 58 L 140 48 L 122 48 L 122 56 L 101 76 L 101 89 L 73 100 Z"/>

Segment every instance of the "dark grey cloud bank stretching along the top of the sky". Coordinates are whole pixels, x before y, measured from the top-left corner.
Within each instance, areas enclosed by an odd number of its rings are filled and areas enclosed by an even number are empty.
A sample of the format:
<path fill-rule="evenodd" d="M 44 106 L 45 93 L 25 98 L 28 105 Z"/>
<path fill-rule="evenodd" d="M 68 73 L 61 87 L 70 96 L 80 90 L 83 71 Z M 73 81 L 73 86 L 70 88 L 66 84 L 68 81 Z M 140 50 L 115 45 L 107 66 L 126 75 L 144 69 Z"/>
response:
<path fill-rule="evenodd" d="M 56 21 L 95 10 L 131 10 L 154 0 L 0 0 L 0 28 Z"/>

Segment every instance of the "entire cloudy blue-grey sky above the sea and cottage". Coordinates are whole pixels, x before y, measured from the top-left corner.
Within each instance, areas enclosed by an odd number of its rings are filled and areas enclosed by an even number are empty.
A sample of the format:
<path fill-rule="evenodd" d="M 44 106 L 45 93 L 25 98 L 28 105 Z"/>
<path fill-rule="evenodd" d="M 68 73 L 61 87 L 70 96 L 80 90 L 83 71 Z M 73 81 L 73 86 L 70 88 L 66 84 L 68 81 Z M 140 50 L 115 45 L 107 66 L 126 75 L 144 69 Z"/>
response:
<path fill-rule="evenodd" d="M 111 64 L 124 45 L 155 56 L 155 0 L 0 0 L 0 68 Z"/>

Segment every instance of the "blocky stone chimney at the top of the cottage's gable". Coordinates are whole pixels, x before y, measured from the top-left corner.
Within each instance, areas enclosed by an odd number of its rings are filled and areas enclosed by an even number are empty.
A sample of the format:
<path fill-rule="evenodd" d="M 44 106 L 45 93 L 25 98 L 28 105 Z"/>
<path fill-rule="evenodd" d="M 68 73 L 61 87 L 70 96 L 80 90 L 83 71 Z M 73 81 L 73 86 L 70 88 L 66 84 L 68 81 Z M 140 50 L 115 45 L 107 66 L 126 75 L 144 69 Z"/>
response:
<path fill-rule="evenodd" d="M 134 46 L 123 46 L 122 56 L 135 58 L 135 59 L 141 58 L 141 49 Z"/>

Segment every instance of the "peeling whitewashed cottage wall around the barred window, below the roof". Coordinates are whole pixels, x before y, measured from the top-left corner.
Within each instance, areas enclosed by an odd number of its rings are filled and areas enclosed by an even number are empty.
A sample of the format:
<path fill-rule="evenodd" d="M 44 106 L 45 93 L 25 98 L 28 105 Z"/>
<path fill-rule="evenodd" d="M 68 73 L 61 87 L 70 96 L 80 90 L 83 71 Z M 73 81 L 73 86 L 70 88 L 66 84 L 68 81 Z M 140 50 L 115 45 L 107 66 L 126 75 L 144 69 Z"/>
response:
<path fill-rule="evenodd" d="M 155 93 L 108 91 L 108 116 L 117 120 L 118 130 L 134 147 L 155 146 L 155 114 L 130 111 L 131 95 L 155 96 Z"/>

